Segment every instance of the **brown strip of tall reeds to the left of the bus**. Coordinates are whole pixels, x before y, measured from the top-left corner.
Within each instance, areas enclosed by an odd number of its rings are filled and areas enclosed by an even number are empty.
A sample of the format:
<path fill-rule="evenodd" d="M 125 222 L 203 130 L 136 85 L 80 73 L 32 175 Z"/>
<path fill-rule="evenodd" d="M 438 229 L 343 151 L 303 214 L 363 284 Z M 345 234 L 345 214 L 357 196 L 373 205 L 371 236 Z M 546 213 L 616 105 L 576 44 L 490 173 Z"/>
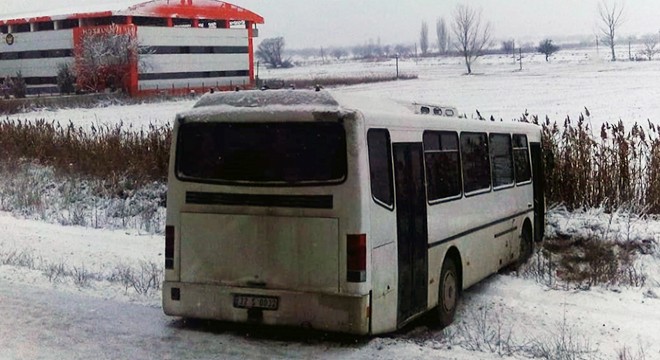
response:
<path fill-rule="evenodd" d="M 5 164 L 23 161 L 57 172 L 139 186 L 167 179 L 172 130 L 150 124 L 134 129 L 123 123 L 91 129 L 45 120 L 0 122 L 0 154 Z"/>

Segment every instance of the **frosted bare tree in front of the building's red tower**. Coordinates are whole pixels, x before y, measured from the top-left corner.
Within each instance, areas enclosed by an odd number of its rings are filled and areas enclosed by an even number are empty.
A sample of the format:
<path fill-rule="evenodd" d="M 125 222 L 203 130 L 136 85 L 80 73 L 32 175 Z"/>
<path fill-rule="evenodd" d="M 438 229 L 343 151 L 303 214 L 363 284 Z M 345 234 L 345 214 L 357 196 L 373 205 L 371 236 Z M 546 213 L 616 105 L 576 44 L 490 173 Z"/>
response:
<path fill-rule="evenodd" d="M 110 25 L 84 30 L 74 49 L 78 85 L 87 90 L 128 90 L 132 66 L 145 68 L 152 53 L 140 45 L 135 28 Z"/>

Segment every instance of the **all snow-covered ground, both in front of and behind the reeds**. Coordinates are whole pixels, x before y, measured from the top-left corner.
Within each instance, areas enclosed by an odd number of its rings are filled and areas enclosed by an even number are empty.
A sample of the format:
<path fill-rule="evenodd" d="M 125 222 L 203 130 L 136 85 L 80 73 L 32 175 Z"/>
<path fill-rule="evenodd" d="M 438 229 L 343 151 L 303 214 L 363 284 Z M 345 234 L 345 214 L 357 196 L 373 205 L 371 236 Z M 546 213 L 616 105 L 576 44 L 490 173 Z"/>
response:
<path fill-rule="evenodd" d="M 418 80 L 336 91 L 451 104 L 468 116 L 479 109 L 512 119 L 527 109 L 563 121 L 586 106 L 594 122 L 660 119 L 657 62 L 610 63 L 578 51 L 560 52 L 549 64 L 540 56 L 524 61 L 518 71 L 510 59 L 484 58 L 477 75 L 465 76 L 456 59 L 402 60 L 403 71 L 419 74 Z M 310 65 L 260 76 L 387 71 L 394 71 L 394 61 Z M 83 127 L 121 121 L 139 128 L 167 124 L 191 105 L 186 100 L 39 110 L 10 118 Z M 636 260 L 646 276 L 642 287 L 576 290 L 495 275 L 465 293 L 456 322 L 444 331 L 418 322 L 396 334 L 354 340 L 170 319 L 159 308 L 160 292 L 148 282 L 162 276 L 153 269 L 163 263 L 160 235 L 58 223 L 57 217 L 0 213 L 0 358 L 616 359 L 627 352 L 625 359 L 660 359 L 660 221 L 654 218 L 559 208 L 548 219 L 550 233 L 650 240 L 654 250 Z M 562 349 L 566 357 L 559 357 Z"/>

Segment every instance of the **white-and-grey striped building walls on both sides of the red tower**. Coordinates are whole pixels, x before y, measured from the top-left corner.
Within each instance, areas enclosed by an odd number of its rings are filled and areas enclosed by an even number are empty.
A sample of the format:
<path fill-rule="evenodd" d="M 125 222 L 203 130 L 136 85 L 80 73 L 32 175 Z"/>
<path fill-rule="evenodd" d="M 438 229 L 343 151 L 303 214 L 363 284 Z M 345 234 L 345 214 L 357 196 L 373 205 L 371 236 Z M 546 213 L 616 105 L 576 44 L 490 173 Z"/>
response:
<path fill-rule="evenodd" d="M 74 31 L 14 33 L 13 45 L 0 38 L 0 76 L 21 72 L 28 87 L 53 91 L 58 65 L 74 63 Z M 150 52 L 142 55 L 137 90 L 209 88 L 250 84 L 247 29 L 137 28 L 138 41 Z M 50 84 L 48 86 L 47 84 Z"/>

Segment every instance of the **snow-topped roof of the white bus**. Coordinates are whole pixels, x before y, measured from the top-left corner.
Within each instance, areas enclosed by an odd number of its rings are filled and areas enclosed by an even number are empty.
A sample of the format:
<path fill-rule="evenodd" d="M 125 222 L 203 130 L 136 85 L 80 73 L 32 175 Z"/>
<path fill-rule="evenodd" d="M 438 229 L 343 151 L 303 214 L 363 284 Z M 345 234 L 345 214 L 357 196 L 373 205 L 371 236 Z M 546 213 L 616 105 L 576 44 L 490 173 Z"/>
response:
<path fill-rule="evenodd" d="M 186 121 L 225 121 L 241 114 L 243 120 L 263 119 L 264 113 L 274 121 L 306 121 L 318 119 L 318 114 L 343 114 L 360 112 L 369 122 L 382 125 L 400 125 L 402 118 L 417 119 L 406 122 L 411 127 L 434 127 L 442 120 L 446 126 L 470 131 L 484 129 L 504 129 L 511 131 L 539 132 L 538 126 L 515 121 L 501 122 L 461 119 L 458 111 L 451 106 L 428 103 L 405 102 L 385 97 L 356 95 L 346 92 L 327 90 L 247 90 L 235 92 L 215 92 L 202 96 L 193 109 L 180 113 L 179 118 Z M 440 116 L 437 116 L 440 115 Z M 337 117 L 334 116 L 334 119 Z M 524 130 L 526 129 L 526 130 Z M 533 130 L 534 129 L 534 130 Z"/>

